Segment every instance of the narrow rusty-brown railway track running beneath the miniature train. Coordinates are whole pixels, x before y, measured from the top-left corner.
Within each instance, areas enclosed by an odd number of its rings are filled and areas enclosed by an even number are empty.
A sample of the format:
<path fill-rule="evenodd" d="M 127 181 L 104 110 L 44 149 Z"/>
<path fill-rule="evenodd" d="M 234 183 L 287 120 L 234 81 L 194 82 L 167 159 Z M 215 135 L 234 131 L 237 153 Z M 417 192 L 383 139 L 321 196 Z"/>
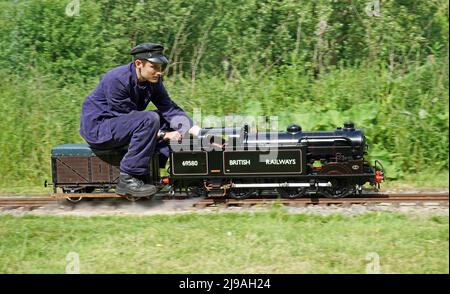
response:
<path fill-rule="evenodd" d="M 68 203 L 65 199 L 67 194 L 52 194 L 49 197 L 0 197 L 0 207 L 41 207 L 50 204 Z M 75 202 L 79 198 L 123 198 L 114 193 L 89 193 L 89 194 L 75 194 L 72 200 Z M 186 199 L 187 196 L 183 194 L 175 194 L 167 196 L 166 194 L 157 194 L 157 198 L 164 200 L 180 200 Z M 367 193 L 360 196 L 353 196 L 348 198 L 316 198 L 304 197 L 298 199 L 284 199 L 276 198 L 276 196 L 264 196 L 265 198 L 250 198 L 250 199 L 222 199 L 222 198 L 199 198 L 193 204 L 197 208 L 204 208 L 208 206 L 254 206 L 254 205 L 289 205 L 289 206 L 307 206 L 307 205 L 340 205 L 349 206 L 353 204 L 363 205 L 449 205 L 449 194 L 424 194 L 424 193 L 409 193 L 409 194 L 388 194 L 388 193 Z M 125 200 L 125 199 L 124 199 Z M 146 199 L 140 200 L 146 201 Z"/>

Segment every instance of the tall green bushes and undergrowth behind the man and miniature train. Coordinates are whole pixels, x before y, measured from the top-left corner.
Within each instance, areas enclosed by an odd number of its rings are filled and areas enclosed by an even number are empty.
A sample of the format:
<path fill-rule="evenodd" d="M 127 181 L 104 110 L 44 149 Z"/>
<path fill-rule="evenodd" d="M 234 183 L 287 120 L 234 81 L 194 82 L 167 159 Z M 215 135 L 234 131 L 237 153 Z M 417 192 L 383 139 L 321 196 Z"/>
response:
<path fill-rule="evenodd" d="M 148 41 L 188 113 L 353 120 L 391 179 L 448 173 L 447 1 L 78 2 L 70 16 L 68 0 L 0 1 L 0 188 L 50 179 L 51 147 L 83 142 L 86 95 Z"/>

